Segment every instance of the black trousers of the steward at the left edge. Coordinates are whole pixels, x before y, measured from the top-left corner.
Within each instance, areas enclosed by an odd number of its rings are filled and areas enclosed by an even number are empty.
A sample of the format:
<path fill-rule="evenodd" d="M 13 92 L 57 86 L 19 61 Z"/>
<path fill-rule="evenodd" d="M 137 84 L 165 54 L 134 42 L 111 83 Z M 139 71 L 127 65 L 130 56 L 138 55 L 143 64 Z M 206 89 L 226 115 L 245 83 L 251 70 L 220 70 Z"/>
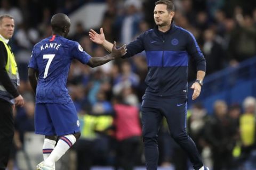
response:
<path fill-rule="evenodd" d="M 14 135 L 12 105 L 0 99 L 0 170 L 7 166 Z"/>

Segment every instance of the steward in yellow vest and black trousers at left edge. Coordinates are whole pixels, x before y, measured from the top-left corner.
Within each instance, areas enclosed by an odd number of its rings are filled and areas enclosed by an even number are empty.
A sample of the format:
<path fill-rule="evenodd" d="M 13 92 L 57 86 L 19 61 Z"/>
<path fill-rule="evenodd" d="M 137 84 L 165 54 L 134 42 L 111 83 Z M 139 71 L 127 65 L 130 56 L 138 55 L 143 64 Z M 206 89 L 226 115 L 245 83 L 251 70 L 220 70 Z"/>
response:
<path fill-rule="evenodd" d="M 23 106 L 17 91 L 19 74 L 11 47 L 7 45 L 14 31 L 10 15 L 0 16 L 0 170 L 6 169 L 12 147 L 14 125 L 13 104 Z"/>

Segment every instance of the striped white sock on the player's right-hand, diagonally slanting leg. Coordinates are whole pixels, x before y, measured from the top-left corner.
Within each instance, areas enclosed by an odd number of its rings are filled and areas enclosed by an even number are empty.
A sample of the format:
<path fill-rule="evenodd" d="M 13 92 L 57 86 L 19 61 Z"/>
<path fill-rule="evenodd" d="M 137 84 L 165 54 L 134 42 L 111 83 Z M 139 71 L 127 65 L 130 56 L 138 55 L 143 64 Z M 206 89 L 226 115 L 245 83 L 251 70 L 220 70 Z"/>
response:
<path fill-rule="evenodd" d="M 45 160 L 44 164 L 52 167 L 55 162 L 57 162 L 72 145 L 74 145 L 75 142 L 76 138 L 73 134 L 60 137 L 56 147 L 53 149 L 50 156 Z"/>

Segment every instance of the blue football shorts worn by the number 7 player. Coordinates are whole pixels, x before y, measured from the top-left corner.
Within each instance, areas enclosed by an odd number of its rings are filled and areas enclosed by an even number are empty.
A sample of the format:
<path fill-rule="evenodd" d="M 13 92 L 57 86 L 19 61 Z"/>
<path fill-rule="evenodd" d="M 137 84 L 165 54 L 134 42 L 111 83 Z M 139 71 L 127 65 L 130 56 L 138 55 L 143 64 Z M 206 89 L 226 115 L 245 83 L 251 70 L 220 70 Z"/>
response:
<path fill-rule="evenodd" d="M 66 135 L 80 131 L 76 108 L 71 104 L 36 104 L 35 133 Z"/>

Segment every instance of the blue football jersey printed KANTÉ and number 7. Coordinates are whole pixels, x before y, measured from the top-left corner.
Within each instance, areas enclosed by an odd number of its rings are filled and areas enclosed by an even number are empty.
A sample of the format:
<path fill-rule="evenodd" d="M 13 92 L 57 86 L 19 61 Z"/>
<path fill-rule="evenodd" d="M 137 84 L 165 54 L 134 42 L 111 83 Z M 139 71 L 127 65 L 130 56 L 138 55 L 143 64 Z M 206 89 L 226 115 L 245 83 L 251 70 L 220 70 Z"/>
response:
<path fill-rule="evenodd" d="M 37 43 L 28 64 L 39 73 L 36 103 L 71 103 L 66 85 L 71 61 L 86 64 L 90 58 L 76 41 L 61 36 L 53 35 Z"/>

